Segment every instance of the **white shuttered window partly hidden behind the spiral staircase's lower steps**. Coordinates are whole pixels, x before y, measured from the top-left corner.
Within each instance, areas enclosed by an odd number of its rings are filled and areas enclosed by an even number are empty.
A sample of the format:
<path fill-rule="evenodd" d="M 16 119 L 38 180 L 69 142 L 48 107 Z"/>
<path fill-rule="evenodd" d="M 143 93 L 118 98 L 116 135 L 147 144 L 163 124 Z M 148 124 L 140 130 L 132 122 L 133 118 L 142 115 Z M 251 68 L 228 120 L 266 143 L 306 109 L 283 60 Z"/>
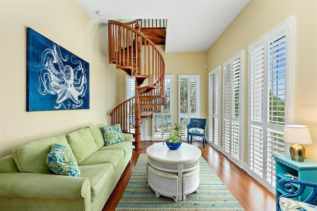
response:
<path fill-rule="evenodd" d="M 164 80 L 164 106 L 160 112 L 155 112 L 152 118 L 152 140 L 165 140 L 168 136 L 167 123 L 172 123 L 172 75 L 165 75 Z"/>

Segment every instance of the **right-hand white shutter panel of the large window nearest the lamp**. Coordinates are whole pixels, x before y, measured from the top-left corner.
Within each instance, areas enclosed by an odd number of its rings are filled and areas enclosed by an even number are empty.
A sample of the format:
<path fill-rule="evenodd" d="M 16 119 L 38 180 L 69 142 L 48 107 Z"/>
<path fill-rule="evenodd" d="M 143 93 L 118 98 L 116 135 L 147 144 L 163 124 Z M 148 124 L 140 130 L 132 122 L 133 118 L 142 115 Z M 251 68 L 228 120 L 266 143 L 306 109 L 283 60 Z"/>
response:
<path fill-rule="evenodd" d="M 267 142 L 265 180 L 275 187 L 275 161 L 272 155 L 284 154 L 285 122 L 285 31 L 270 36 L 267 56 Z"/>

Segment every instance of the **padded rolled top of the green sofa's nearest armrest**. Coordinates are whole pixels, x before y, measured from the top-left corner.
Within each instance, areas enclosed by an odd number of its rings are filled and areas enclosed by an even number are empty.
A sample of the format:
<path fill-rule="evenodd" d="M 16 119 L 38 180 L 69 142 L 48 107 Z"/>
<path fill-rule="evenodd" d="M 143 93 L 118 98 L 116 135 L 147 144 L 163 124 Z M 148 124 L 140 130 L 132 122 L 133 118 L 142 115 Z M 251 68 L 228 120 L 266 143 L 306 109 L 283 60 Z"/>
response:
<path fill-rule="evenodd" d="M 0 173 L 0 197 L 91 201 L 90 180 L 39 173 Z"/>

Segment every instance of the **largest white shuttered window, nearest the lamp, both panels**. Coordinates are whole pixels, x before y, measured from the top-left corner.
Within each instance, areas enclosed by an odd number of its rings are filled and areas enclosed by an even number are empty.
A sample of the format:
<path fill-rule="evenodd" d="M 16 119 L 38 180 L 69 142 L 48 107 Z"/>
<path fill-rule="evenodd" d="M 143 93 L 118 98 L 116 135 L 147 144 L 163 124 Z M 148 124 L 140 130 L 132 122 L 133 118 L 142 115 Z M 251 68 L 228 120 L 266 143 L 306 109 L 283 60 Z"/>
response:
<path fill-rule="evenodd" d="M 275 186 L 272 155 L 284 154 L 284 124 L 293 115 L 292 22 L 291 17 L 249 45 L 248 173 L 272 192 Z"/>

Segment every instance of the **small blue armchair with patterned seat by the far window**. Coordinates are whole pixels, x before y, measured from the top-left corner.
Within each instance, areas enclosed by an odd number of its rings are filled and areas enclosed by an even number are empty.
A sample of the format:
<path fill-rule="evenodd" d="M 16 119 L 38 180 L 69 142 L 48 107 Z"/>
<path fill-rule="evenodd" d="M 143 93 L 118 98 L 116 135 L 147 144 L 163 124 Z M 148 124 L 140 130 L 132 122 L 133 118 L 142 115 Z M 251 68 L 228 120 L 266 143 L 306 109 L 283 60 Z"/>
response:
<path fill-rule="evenodd" d="M 187 125 L 187 143 L 197 141 L 203 144 L 206 143 L 206 127 L 207 119 L 191 118 Z M 195 140 L 193 136 L 202 137 L 203 140 Z"/>

